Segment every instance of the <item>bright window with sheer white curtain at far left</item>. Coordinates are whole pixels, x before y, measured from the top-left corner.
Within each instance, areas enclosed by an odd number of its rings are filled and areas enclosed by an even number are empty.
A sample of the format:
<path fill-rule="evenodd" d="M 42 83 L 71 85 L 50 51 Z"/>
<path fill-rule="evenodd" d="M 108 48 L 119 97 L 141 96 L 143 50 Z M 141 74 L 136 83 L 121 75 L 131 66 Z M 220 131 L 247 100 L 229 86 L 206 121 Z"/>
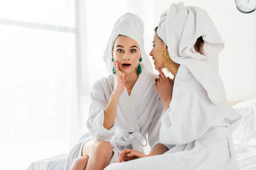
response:
<path fill-rule="evenodd" d="M 0 1 L 0 169 L 68 153 L 79 115 L 74 0 Z"/>

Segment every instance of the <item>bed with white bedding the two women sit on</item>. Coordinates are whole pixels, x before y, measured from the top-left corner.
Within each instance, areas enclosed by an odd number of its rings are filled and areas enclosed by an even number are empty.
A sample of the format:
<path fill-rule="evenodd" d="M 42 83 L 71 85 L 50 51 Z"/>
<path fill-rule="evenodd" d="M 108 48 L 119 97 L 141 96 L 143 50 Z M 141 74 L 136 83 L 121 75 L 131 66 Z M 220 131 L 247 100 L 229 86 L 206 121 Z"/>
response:
<path fill-rule="evenodd" d="M 230 101 L 230 105 L 241 115 L 242 121 L 234 130 L 233 139 L 240 170 L 256 170 L 256 99 Z M 148 153 L 149 147 L 145 148 Z M 64 169 L 67 155 L 33 162 L 27 170 Z"/>

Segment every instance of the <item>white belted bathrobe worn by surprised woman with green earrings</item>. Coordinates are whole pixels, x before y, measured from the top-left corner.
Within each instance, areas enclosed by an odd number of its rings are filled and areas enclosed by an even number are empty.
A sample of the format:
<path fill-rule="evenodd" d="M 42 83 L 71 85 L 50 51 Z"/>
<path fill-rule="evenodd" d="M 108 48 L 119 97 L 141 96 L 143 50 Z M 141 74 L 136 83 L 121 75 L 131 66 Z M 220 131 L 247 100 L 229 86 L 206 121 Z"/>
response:
<path fill-rule="evenodd" d="M 148 134 L 148 143 L 154 148 L 159 142 L 160 117 L 163 104 L 154 87 L 156 74 L 143 67 L 130 96 L 125 88 L 119 98 L 116 119 L 113 127 L 107 130 L 103 127 L 104 109 L 106 108 L 114 89 L 114 75 L 97 81 L 91 90 L 89 118 L 86 133 L 79 143 L 71 150 L 65 170 L 69 170 L 72 162 L 81 156 L 83 145 L 90 139 L 110 142 L 113 147 L 111 163 L 118 161 L 123 149 L 143 151 Z"/>

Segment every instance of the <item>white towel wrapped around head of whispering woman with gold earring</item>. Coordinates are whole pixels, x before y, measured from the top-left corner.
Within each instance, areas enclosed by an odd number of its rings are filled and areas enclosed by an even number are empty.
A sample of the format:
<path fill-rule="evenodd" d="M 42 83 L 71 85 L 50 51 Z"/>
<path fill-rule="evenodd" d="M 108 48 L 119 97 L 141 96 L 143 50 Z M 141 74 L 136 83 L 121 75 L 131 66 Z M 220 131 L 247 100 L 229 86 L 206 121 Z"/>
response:
<path fill-rule="evenodd" d="M 207 91 L 209 99 L 218 105 L 226 93 L 218 74 L 218 54 L 224 48 L 218 30 L 206 11 L 194 6 L 173 3 L 161 14 L 157 35 L 168 46 L 172 60 L 186 65 Z M 195 51 L 199 37 L 204 39 L 204 55 Z"/>

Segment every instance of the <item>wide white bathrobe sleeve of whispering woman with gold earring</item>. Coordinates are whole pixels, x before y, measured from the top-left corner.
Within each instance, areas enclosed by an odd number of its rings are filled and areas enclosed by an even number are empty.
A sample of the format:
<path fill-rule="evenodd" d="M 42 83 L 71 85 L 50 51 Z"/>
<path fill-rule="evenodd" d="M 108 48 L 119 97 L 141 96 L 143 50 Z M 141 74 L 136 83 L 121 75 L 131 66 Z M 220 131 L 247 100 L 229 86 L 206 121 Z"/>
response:
<path fill-rule="evenodd" d="M 213 105 L 207 92 L 195 81 L 182 82 L 173 88 L 170 107 L 161 117 L 160 142 L 187 144 L 224 119 L 221 109 L 225 108 Z"/>

